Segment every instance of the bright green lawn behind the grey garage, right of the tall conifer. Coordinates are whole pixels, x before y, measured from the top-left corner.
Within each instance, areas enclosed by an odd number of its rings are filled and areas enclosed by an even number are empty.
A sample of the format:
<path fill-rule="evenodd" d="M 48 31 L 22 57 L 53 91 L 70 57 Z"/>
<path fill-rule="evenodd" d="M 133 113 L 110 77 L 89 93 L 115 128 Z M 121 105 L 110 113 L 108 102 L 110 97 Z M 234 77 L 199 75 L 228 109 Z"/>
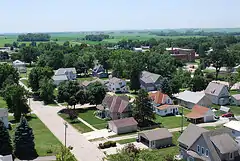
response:
<path fill-rule="evenodd" d="M 176 116 L 165 116 L 161 117 L 159 115 L 155 115 L 156 123 L 161 123 L 165 128 L 172 129 L 182 126 L 182 117 L 176 117 Z M 187 126 L 189 122 L 187 122 L 186 118 L 183 117 L 183 126 Z"/>

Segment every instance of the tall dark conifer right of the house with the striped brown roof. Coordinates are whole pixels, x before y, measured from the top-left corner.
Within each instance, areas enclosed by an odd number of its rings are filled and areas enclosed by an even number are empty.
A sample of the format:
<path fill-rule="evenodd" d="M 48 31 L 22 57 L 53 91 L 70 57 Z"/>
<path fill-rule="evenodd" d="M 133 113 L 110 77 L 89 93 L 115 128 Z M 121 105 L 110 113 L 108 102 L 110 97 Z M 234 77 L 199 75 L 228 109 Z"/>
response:
<path fill-rule="evenodd" d="M 133 106 L 133 117 L 140 124 L 144 124 L 145 121 L 153 120 L 155 118 L 151 100 L 148 97 L 148 93 L 144 89 L 140 89 L 138 91 L 138 96 L 135 100 L 135 106 Z"/>

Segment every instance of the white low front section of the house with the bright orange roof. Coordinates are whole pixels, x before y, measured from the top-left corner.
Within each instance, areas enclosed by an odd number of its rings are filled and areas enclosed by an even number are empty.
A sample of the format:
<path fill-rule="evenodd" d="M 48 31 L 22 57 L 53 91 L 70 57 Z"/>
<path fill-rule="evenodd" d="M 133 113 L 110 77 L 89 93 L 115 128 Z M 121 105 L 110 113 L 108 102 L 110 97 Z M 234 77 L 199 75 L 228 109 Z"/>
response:
<path fill-rule="evenodd" d="M 160 116 L 176 115 L 178 114 L 178 105 L 161 105 L 155 108 L 155 113 Z"/>

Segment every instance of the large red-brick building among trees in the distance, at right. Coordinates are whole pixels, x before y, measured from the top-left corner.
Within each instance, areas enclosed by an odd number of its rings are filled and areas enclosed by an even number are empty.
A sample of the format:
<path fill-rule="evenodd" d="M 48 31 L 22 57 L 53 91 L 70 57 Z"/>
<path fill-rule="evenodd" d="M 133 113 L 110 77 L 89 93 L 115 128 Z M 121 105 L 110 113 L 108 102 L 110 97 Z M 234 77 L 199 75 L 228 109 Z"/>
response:
<path fill-rule="evenodd" d="M 170 52 L 171 55 L 178 60 L 194 62 L 196 52 L 194 49 L 183 49 L 183 48 L 166 48 L 166 51 Z"/>

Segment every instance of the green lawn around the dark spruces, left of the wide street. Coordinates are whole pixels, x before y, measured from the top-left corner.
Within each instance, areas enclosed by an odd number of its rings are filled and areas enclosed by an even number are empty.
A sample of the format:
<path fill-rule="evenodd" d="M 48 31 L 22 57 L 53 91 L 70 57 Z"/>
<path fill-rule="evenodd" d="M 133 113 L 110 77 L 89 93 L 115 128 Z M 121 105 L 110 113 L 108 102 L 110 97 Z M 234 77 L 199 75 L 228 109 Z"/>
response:
<path fill-rule="evenodd" d="M 14 123 L 13 117 L 9 117 L 9 121 Z M 61 147 L 60 141 L 51 133 L 51 131 L 38 119 L 35 115 L 28 117 L 29 126 L 33 129 L 35 137 L 35 148 L 39 156 L 55 155 Z M 12 125 L 10 134 L 13 136 L 16 124 Z M 51 150 L 52 153 L 47 153 Z"/>

